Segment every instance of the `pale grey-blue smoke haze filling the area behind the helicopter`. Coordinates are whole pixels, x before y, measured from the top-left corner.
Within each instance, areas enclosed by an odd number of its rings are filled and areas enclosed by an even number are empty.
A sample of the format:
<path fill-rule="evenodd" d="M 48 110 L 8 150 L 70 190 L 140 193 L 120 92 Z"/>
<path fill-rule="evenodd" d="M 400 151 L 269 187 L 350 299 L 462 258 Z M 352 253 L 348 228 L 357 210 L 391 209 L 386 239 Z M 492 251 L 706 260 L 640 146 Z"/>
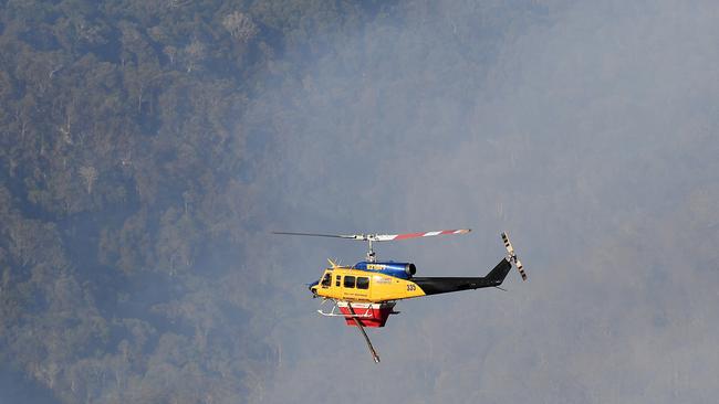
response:
<path fill-rule="evenodd" d="M 524 4 L 518 7 L 527 7 Z M 488 11 L 489 10 L 489 11 Z M 254 402 L 708 403 L 719 395 L 719 4 L 577 1 L 522 19 L 411 9 L 269 91 L 268 230 L 469 235 L 379 245 L 529 281 L 398 304 L 383 362 L 302 283 L 363 244 L 270 238 L 280 361 Z M 497 7 L 498 12 L 502 12 Z M 500 21 L 479 30 L 478 18 Z M 507 26 L 504 26 L 504 25 Z M 483 25 L 482 25 L 483 26 Z M 302 105 L 283 105 L 303 99 Z"/>

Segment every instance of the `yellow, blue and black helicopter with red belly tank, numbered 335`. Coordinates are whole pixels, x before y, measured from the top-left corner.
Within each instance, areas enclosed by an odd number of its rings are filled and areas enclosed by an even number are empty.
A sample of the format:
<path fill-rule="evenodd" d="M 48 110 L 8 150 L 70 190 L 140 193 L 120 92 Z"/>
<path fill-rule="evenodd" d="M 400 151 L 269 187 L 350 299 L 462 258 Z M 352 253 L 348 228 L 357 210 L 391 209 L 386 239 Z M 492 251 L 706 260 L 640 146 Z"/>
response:
<path fill-rule="evenodd" d="M 501 233 L 507 255 L 483 277 L 416 277 L 417 267 L 415 264 L 377 261 L 373 246 L 373 243 L 378 242 L 459 235 L 467 234 L 470 231 L 470 228 L 458 228 L 404 234 L 272 233 L 345 238 L 368 243 L 365 261 L 352 266 L 343 266 L 327 259 L 330 266 L 325 268 L 319 280 L 308 284 L 308 287 L 313 298 L 322 298 L 317 312 L 324 317 L 344 318 L 347 326 L 356 327 L 367 343 L 372 359 L 375 363 L 379 363 L 379 355 L 374 349 L 369 337 L 367 337 L 365 327 L 385 327 L 389 316 L 399 313 L 399 311 L 394 310 L 397 300 L 487 287 L 502 289 L 500 285 L 504 281 L 512 265 L 519 272 L 522 280 L 527 280 L 524 267 L 517 257 L 507 232 Z M 327 302 L 332 305 L 329 310 L 326 308 Z"/>

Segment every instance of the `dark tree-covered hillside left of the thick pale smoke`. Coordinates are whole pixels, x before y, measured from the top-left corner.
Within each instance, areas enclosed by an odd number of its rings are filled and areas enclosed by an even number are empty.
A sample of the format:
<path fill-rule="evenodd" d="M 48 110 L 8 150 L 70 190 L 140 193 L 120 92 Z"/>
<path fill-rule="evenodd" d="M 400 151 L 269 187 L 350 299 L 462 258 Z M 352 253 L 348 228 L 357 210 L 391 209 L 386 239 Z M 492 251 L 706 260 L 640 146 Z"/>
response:
<path fill-rule="evenodd" d="M 64 403 L 242 402 L 275 361 L 243 268 L 286 136 L 246 111 L 385 6 L 0 2 L 2 374 Z"/>

